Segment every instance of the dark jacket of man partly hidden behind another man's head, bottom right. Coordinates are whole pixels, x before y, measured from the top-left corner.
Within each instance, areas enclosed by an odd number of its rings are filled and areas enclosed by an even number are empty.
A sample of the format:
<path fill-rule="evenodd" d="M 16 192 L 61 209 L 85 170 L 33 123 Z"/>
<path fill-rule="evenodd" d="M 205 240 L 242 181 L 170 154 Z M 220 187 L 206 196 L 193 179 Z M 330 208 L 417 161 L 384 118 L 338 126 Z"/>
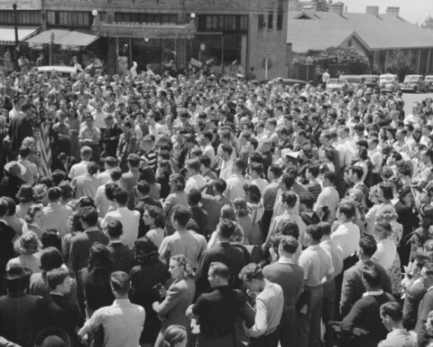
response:
<path fill-rule="evenodd" d="M 373 261 L 358 261 L 353 267 L 345 270 L 343 285 L 341 286 L 340 314 L 345 317 L 363 294 L 365 286 L 363 284 L 364 269 L 373 264 Z M 382 284 L 381 288 L 385 293 L 392 293 L 391 279 L 386 270 L 380 265 L 375 264 L 381 269 Z"/>

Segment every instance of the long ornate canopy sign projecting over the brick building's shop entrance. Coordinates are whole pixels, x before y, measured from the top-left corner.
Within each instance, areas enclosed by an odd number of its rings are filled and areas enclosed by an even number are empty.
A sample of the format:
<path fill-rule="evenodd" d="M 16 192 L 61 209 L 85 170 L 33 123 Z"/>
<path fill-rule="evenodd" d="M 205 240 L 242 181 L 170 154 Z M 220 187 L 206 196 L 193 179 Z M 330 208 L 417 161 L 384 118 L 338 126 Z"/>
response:
<path fill-rule="evenodd" d="M 192 39 L 196 33 L 194 23 L 135 23 L 99 22 L 93 23 L 92 30 L 101 36 L 133 37 L 149 39 Z"/>

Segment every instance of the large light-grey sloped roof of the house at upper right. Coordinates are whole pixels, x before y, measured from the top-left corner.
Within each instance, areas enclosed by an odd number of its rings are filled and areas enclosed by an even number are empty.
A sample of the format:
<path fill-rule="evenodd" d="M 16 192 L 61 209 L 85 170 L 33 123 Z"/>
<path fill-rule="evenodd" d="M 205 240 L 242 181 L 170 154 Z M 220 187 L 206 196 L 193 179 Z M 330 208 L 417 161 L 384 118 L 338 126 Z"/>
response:
<path fill-rule="evenodd" d="M 305 16 L 311 19 L 297 19 Z M 433 48 L 433 33 L 392 14 L 289 13 L 287 42 L 293 52 L 324 51 L 352 34 L 369 51 Z"/>

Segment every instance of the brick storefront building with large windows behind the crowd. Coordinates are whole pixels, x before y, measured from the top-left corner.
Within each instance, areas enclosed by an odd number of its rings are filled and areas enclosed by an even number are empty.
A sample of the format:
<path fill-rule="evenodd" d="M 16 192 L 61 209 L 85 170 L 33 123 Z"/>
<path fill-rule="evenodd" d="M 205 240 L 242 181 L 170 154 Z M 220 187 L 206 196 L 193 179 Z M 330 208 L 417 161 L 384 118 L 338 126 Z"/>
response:
<path fill-rule="evenodd" d="M 158 70 L 162 62 L 173 61 L 180 68 L 201 62 L 224 74 L 245 74 L 253 68 L 257 79 L 263 80 L 287 76 L 287 18 L 297 3 L 298 0 L 43 0 L 39 19 L 41 31 L 61 28 L 101 36 L 106 49 L 95 53 L 109 73 L 122 72 L 133 61 L 139 71 L 148 64 L 152 70 Z M 191 14 L 195 17 L 191 18 Z M 6 14 L 4 17 L 5 21 L 10 18 Z M 2 18 L 0 15 L 0 24 L 5 23 Z M 28 19 L 38 23 L 38 14 L 29 14 Z M 94 25 L 92 31 L 95 19 L 104 25 Z M 21 24 L 28 23 L 23 20 Z M 172 34 L 176 28 L 180 28 L 179 33 L 191 32 L 191 28 L 182 29 L 189 25 L 194 25 L 193 34 Z"/>

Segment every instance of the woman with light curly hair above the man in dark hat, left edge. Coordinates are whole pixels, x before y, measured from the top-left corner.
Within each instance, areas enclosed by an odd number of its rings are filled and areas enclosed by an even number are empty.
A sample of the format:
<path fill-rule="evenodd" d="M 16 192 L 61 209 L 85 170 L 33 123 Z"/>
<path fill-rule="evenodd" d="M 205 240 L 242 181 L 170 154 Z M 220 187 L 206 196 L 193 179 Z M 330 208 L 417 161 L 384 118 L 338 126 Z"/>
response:
<path fill-rule="evenodd" d="M 41 259 L 38 254 L 41 241 L 34 232 L 27 231 L 16 239 L 14 249 L 19 256 L 8 261 L 6 271 L 11 267 L 25 267 L 31 269 L 33 274 L 41 272 Z"/>

